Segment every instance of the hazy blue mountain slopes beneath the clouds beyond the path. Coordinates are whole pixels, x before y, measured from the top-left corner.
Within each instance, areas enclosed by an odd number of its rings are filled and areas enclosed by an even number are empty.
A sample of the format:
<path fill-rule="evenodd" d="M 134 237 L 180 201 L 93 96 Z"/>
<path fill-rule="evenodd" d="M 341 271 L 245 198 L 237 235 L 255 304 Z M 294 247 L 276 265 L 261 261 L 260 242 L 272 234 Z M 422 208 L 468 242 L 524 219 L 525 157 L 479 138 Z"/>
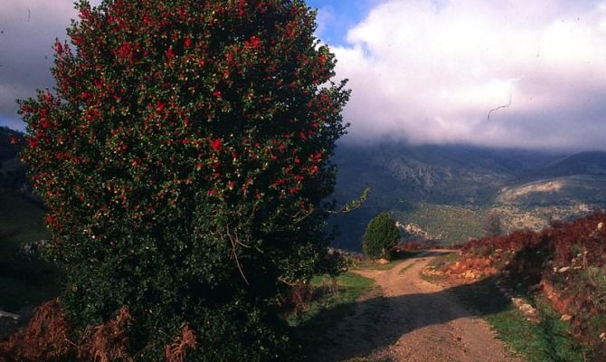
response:
<path fill-rule="evenodd" d="M 486 233 L 488 214 L 498 214 L 505 229 L 514 230 L 606 206 L 601 151 L 341 144 L 333 161 L 337 202 L 372 189 L 360 209 L 329 222 L 340 229 L 335 245 L 348 249 L 359 249 L 365 225 L 385 210 L 442 243 L 462 243 Z"/>

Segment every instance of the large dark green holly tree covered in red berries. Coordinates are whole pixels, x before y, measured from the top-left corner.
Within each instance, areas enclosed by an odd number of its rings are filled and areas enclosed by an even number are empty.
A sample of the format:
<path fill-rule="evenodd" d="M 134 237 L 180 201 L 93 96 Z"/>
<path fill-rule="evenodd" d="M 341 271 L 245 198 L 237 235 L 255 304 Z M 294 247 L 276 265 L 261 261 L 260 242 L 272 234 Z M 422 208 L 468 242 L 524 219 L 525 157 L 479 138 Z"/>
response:
<path fill-rule="evenodd" d="M 346 129 L 349 91 L 330 81 L 315 13 L 298 0 L 76 7 L 56 90 L 20 102 L 67 318 L 81 331 L 128 312 L 136 360 L 170 359 L 175 343 L 191 360 L 279 358 L 277 295 L 329 260 L 322 200 Z"/>

